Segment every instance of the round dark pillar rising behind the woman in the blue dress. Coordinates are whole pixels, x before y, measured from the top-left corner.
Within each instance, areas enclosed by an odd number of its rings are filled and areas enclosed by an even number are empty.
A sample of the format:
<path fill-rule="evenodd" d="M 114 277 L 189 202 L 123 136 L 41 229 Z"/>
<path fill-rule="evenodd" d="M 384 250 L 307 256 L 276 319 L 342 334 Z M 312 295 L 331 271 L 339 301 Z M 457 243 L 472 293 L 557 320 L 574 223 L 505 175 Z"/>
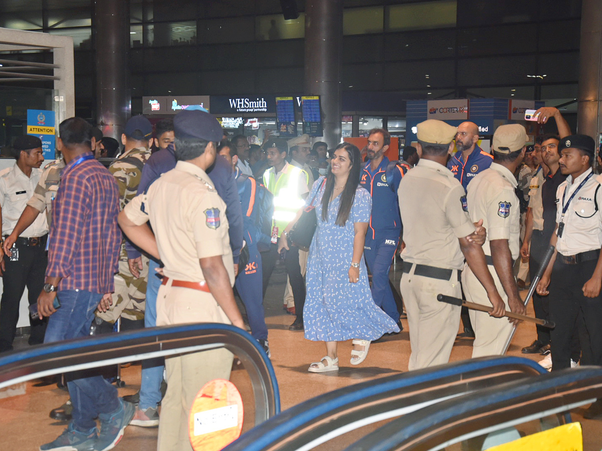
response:
<path fill-rule="evenodd" d="M 342 45 L 343 0 L 306 0 L 304 94 L 320 96 L 329 149 L 341 142 Z"/>

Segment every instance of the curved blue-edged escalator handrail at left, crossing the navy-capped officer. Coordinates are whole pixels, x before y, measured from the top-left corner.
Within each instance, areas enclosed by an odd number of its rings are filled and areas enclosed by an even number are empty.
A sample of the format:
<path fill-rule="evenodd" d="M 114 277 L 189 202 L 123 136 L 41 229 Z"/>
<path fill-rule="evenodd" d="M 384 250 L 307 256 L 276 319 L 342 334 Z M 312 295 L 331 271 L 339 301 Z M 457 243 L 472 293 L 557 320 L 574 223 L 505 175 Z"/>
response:
<path fill-rule="evenodd" d="M 255 424 L 278 414 L 280 394 L 270 359 L 250 334 L 227 324 L 154 327 L 34 346 L 0 357 L 0 388 L 63 372 L 222 346 L 235 354 L 249 373 Z"/>

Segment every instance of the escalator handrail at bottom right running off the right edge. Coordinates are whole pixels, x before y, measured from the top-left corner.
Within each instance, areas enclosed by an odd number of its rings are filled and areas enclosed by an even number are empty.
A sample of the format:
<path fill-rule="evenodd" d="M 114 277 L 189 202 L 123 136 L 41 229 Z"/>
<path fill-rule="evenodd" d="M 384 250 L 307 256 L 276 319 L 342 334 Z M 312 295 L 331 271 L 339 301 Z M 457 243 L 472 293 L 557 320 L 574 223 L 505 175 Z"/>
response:
<path fill-rule="evenodd" d="M 439 450 L 462 440 L 569 411 L 597 397 L 602 397 L 602 367 L 560 370 L 425 407 L 376 429 L 345 451 Z"/>

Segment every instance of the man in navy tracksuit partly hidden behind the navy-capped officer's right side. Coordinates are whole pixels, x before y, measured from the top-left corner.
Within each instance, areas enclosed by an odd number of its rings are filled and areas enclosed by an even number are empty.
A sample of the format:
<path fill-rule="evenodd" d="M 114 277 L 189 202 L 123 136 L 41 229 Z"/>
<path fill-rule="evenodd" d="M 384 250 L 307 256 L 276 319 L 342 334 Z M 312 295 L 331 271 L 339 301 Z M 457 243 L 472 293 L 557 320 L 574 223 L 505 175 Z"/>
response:
<path fill-rule="evenodd" d="M 258 249 L 260 231 L 257 227 L 259 215 L 259 182 L 253 177 L 243 174 L 237 167 L 238 149 L 233 143 L 222 143 L 217 149 L 219 156 L 223 156 L 234 168 L 234 177 L 240 195 L 240 206 L 243 213 L 243 239 L 249 250 L 249 260 L 245 266 L 238 268 L 235 286 L 238 295 L 247 310 L 247 319 L 251 328 L 251 335 L 261 344 L 265 353 L 270 357 L 270 348 L 267 342 L 267 326 L 265 325 L 265 312 L 263 308 L 263 271 L 261 252 Z M 243 246 L 244 247 L 244 246 Z"/>

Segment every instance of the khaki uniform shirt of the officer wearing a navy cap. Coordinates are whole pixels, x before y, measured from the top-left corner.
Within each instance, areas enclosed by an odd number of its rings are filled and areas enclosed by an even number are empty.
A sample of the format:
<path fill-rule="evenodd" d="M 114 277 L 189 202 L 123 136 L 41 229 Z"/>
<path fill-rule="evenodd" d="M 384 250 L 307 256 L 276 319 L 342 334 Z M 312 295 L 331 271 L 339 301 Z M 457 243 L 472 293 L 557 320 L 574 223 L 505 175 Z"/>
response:
<path fill-rule="evenodd" d="M 196 165 L 178 161 L 123 211 L 135 224 L 151 221 L 167 277 L 204 281 L 199 259 L 222 256 L 234 284 L 226 204 L 209 176 Z"/>

